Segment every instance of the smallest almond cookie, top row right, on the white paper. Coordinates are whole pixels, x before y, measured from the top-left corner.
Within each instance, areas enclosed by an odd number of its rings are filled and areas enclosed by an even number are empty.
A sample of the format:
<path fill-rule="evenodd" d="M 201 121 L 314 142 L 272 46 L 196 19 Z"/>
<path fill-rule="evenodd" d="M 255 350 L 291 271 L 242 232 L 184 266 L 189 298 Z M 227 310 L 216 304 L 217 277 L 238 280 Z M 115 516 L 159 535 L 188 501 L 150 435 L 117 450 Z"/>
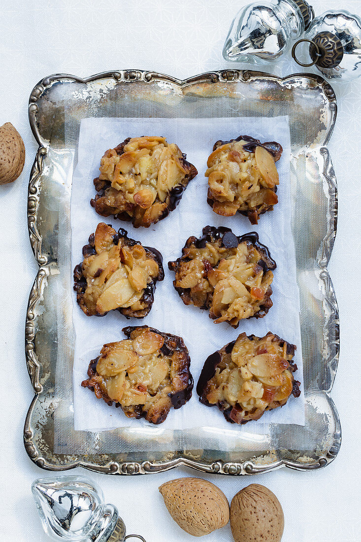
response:
<path fill-rule="evenodd" d="M 248 135 L 217 141 L 208 158 L 208 203 L 222 216 L 236 212 L 257 224 L 259 216 L 278 203 L 279 184 L 275 160 L 282 147 L 273 141 L 261 144 Z"/>

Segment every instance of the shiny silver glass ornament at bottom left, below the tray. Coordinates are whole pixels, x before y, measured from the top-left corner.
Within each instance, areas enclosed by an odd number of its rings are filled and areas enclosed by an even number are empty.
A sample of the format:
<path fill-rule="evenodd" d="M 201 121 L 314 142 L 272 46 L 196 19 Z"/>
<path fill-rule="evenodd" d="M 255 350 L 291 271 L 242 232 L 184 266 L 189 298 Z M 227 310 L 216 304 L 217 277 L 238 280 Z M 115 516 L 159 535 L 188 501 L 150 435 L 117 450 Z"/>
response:
<path fill-rule="evenodd" d="M 125 535 L 118 510 L 104 503 L 98 485 L 83 476 L 35 480 L 31 486 L 44 531 L 53 540 L 65 542 L 123 542 L 138 538 Z"/>

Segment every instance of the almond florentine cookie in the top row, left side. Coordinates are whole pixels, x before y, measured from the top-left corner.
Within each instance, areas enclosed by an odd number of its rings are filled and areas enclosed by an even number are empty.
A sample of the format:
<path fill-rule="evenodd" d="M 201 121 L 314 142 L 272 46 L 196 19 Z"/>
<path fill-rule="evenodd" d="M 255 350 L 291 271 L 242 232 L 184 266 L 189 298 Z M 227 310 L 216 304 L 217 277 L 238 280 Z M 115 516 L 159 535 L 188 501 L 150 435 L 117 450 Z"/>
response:
<path fill-rule="evenodd" d="M 114 215 L 148 228 L 169 215 L 197 175 L 194 165 L 163 137 L 128 138 L 106 151 L 94 179 L 91 204 L 102 216 Z"/>

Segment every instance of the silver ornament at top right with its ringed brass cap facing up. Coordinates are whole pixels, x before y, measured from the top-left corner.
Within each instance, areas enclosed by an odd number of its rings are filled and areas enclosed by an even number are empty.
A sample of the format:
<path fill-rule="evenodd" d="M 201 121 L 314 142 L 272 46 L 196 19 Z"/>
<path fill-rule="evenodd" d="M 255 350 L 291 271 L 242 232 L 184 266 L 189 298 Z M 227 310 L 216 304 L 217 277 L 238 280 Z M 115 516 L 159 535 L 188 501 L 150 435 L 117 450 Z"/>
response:
<path fill-rule="evenodd" d="M 311 62 L 296 57 L 296 47 L 308 42 Z M 347 11 L 327 11 L 310 24 L 305 38 L 296 42 L 292 56 L 300 66 L 313 66 L 326 79 L 347 82 L 361 75 L 361 19 Z"/>

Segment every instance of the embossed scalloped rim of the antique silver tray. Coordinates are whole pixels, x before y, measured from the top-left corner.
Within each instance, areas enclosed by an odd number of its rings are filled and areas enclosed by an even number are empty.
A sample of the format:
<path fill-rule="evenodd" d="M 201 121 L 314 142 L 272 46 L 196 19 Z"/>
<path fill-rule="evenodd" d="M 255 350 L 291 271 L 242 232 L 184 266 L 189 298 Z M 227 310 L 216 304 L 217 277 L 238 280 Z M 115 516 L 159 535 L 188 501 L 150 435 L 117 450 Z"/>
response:
<path fill-rule="evenodd" d="M 328 307 L 328 320 L 332 321 L 334 324 L 334 333 L 333 337 L 328 337 L 326 332 L 325 340 L 332 343 L 331 354 L 327 359 L 326 365 L 330 372 L 330 385 L 327 389 L 322 390 L 327 397 L 327 401 L 331 407 L 333 414 L 333 421 L 335 424 L 334 433 L 337 435 L 337 438 L 334 438 L 330 448 L 324 456 L 319 457 L 318 461 L 307 462 L 307 457 L 305 458 L 304 464 L 289 459 L 276 459 L 275 461 L 270 462 L 269 464 L 254 464 L 252 461 L 243 461 L 243 462 L 223 462 L 223 461 L 213 461 L 213 462 L 202 462 L 196 461 L 194 459 L 188 459 L 187 457 L 176 457 L 169 461 L 114 461 L 112 457 L 109 456 L 102 461 L 102 464 L 96 463 L 93 461 L 87 461 L 85 457 L 74 456 L 72 459 L 69 457 L 57 457 L 53 454 L 51 457 L 47 457 L 46 453 L 42 453 L 40 447 L 34 441 L 34 423 L 36 420 L 33 420 L 33 412 L 38 401 L 41 401 L 43 393 L 43 385 L 40 379 L 40 372 L 42 367 L 42 360 L 38 358 L 36 353 L 36 333 L 35 333 L 35 322 L 37 318 L 36 308 L 42 299 L 44 287 L 46 287 L 46 278 L 54 270 L 54 262 L 49 261 L 48 256 L 42 253 L 42 236 L 37 228 L 37 210 L 38 204 L 40 201 L 41 193 L 41 176 L 43 173 L 43 159 L 47 154 L 47 142 L 43 139 L 40 131 L 38 130 L 37 124 L 37 113 L 38 105 L 37 100 L 43 95 L 44 91 L 48 87 L 59 83 L 59 82 L 79 82 L 79 83 L 92 83 L 94 81 L 99 81 L 103 79 L 112 79 L 122 83 L 128 82 L 132 83 L 134 81 L 166 81 L 173 83 L 178 86 L 181 91 L 184 88 L 194 85 L 195 83 L 201 82 L 217 82 L 222 81 L 227 83 L 234 81 L 247 82 L 254 78 L 261 79 L 273 79 L 278 82 L 279 85 L 287 86 L 291 81 L 295 81 L 298 78 L 309 79 L 312 81 L 312 84 L 318 85 L 322 88 L 322 91 L 326 98 L 333 102 L 333 118 L 331 125 L 328 129 L 328 132 L 324 138 L 324 145 L 321 147 L 320 152 L 324 153 L 324 171 L 323 175 L 327 179 L 327 189 L 328 194 L 333 196 L 334 206 L 332 209 L 327 209 L 327 233 L 323 239 L 321 247 L 318 251 L 317 263 L 320 271 L 320 279 L 323 280 L 324 284 L 324 294 L 325 294 L 325 303 Z M 339 419 L 336 407 L 334 406 L 331 397 L 328 393 L 332 389 L 334 382 L 334 377 L 336 376 L 338 356 L 339 356 L 339 330 L 338 330 L 338 308 L 336 296 L 334 294 L 334 289 L 332 286 L 332 281 L 330 275 L 328 275 L 326 266 L 330 259 L 332 247 L 334 243 L 334 238 L 336 235 L 337 228 L 337 184 L 336 176 L 334 175 L 332 163 L 330 156 L 327 150 L 327 143 L 331 137 L 334 123 L 336 121 L 336 96 L 334 95 L 332 87 L 320 76 L 315 76 L 313 74 L 292 74 L 286 78 L 278 78 L 274 75 L 254 72 L 248 70 L 234 70 L 226 69 L 214 72 L 208 72 L 201 75 L 197 75 L 185 80 L 179 80 L 172 78 L 167 75 L 159 74 L 156 72 L 147 72 L 143 70 L 119 70 L 114 72 L 104 72 L 100 74 L 93 75 L 89 78 L 78 78 L 73 75 L 68 74 L 54 74 L 50 75 L 47 78 L 42 79 L 33 89 L 30 94 L 29 99 L 29 121 L 31 130 L 33 131 L 34 137 L 39 145 L 35 162 L 30 173 L 30 182 L 28 189 L 28 228 L 29 228 L 29 237 L 31 248 L 33 249 L 35 259 L 39 265 L 39 270 L 34 281 L 33 288 L 31 289 L 29 296 L 29 304 L 27 309 L 27 317 L 25 324 L 25 356 L 27 362 L 27 368 L 35 392 L 33 401 L 31 402 L 27 417 L 25 419 L 24 426 L 24 445 L 25 449 L 31 460 L 33 460 L 39 467 L 47 470 L 67 470 L 75 468 L 78 466 L 85 467 L 87 469 L 95 470 L 100 473 L 107 474 L 147 474 L 154 472 L 162 472 L 179 466 L 188 466 L 197 470 L 201 470 L 207 473 L 217 473 L 217 474 L 229 474 L 229 475 L 240 475 L 240 474 L 260 474 L 269 472 L 270 470 L 279 469 L 281 467 L 288 467 L 296 470 L 314 470 L 321 467 L 325 467 L 336 457 L 341 441 L 341 433 L 339 426 Z M 45 279 L 45 280 L 44 280 Z M 49 399 L 49 398 L 48 398 Z M 50 403 L 50 407 L 54 409 L 54 405 Z M 49 415 L 51 412 L 49 413 Z M 104 454 L 103 454 L 104 455 Z M 114 457 L 114 456 L 113 456 Z"/>

